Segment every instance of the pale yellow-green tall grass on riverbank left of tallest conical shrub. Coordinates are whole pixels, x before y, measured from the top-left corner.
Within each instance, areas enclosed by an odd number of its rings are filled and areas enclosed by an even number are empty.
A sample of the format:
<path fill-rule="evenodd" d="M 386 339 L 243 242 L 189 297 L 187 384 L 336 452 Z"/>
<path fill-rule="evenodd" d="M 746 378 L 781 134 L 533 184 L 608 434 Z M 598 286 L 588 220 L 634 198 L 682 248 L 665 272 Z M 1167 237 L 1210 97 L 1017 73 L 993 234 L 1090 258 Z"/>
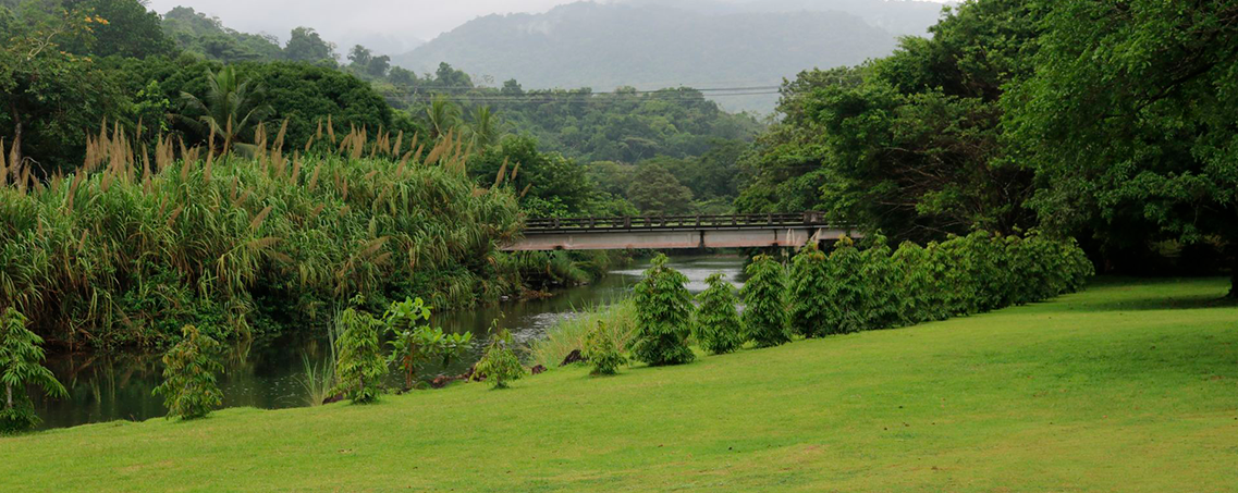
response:
<path fill-rule="evenodd" d="M 626 348 L 636 334 L 636 305 L 631 300 L 604 307 L 577 310 L 546 331 L 546 337 L 530 346 L 530 363 L 557 367 L 572 351 L 584 348 L 584 337 L 599 321 L 619 347 Z"/>

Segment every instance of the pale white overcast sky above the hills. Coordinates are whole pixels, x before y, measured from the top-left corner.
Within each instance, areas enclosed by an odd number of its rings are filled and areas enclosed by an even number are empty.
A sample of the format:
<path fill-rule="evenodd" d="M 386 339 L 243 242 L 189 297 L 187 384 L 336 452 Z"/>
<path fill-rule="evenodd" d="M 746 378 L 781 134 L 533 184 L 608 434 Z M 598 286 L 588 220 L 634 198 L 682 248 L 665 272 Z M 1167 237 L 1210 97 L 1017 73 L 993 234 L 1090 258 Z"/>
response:
<path fill-rule="evenodd" d="M 147 7 L 160 14 L 177 5 L 193 7 L 230 28 L 274 35 L 281 42 L 293 27 L 307 26 L 337 43 L 340 53 L 364 45 L 399 55 L 418 40 L 430 41 L 479 16 L 545 12 L 574 1 L 579 0 L 149 0 Z"/>

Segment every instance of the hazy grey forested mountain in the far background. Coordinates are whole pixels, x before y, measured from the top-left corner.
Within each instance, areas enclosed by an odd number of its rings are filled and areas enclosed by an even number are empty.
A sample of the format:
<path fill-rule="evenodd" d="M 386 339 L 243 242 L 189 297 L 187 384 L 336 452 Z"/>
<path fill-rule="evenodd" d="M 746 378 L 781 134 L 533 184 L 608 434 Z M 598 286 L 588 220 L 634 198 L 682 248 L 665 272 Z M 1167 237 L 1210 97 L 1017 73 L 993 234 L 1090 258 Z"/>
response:
<path fill-rule="evenodd" d="M 546 14 L 491 15 L 392 63 L 427 72 L 448 62 L 526 88 L 753 87 L 776 85 L 810 67 L 857 64 L 889 55 L 896 43 L 890 31 L 839 11 L 728 14 L 692 5 L 578 2 Z M 718 98 L 727 109 L 759 111 L 771 111 L 776 100 L 776 94 Z"/>

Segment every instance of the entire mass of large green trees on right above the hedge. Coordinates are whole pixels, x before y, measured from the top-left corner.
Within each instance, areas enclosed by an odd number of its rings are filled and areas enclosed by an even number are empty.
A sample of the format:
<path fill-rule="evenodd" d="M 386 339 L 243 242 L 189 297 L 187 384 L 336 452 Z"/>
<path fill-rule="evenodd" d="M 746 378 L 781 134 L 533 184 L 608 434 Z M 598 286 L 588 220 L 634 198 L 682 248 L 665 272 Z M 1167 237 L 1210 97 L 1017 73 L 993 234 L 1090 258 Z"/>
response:
<path fill-rule="evenodd" d="M 1238 297 L 1234 9 L 964 1 L 931 38 L 785 83 L 735 206 L 921 243 L 1040 229 L 1112 270 L 1229 265 Z"/>

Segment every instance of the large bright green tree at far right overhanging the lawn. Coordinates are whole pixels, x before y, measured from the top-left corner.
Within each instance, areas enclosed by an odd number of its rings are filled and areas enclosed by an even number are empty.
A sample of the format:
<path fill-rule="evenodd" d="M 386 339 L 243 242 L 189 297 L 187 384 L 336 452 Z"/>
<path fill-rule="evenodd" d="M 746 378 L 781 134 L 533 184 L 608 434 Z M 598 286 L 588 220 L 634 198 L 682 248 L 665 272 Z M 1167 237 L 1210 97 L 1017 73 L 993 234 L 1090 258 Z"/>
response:
<path fill-rule="evenodd" d="M 1035 74 L 1004 98 L 1032 207 L 1103 251 L 1219 243 L 1238 299 L 1238 2 L 1051 2 Z"/>

